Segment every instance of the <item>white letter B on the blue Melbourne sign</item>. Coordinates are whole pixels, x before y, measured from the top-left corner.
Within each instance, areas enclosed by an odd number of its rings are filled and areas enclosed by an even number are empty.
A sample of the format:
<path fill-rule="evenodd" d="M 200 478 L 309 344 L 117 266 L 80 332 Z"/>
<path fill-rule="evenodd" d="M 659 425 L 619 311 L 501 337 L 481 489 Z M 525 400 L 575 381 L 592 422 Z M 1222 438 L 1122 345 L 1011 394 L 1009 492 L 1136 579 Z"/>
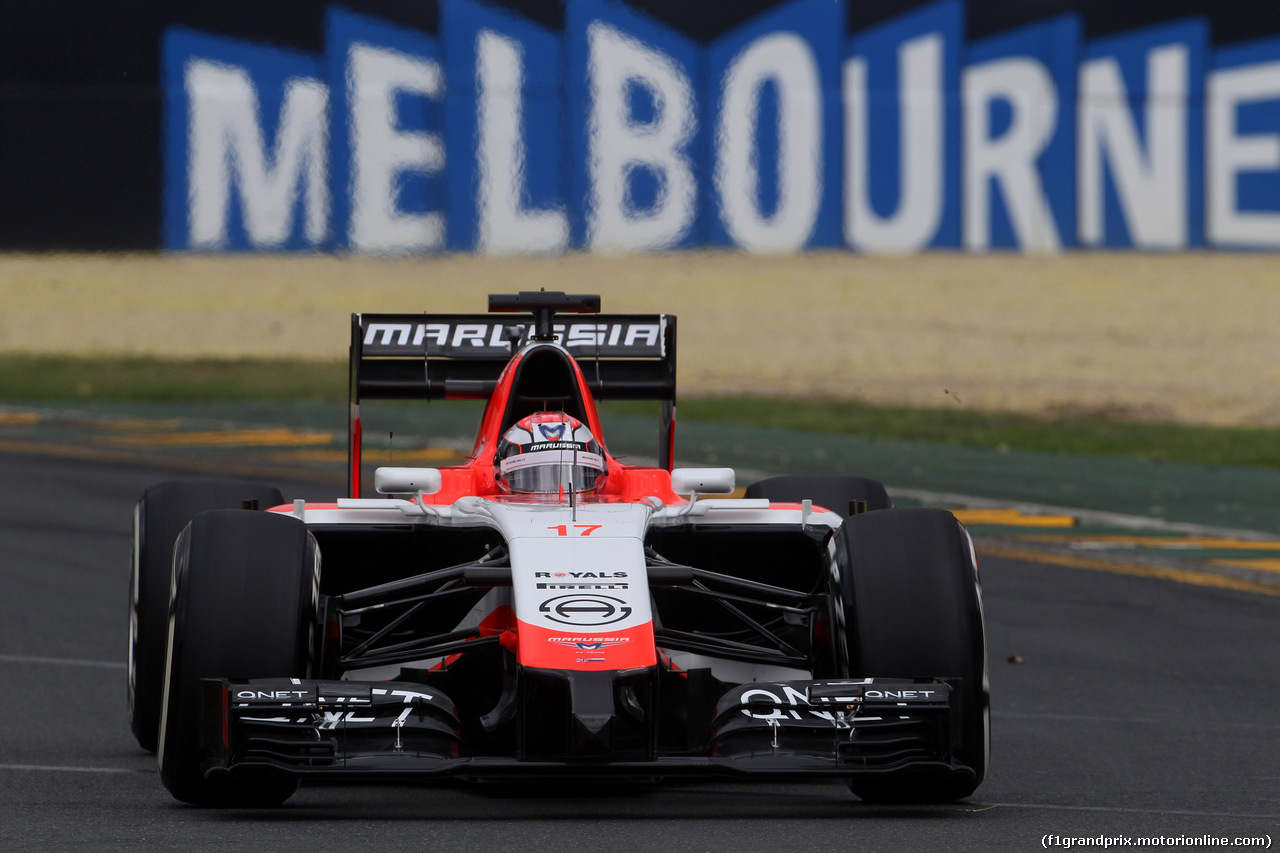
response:
<path fill-rule="evenodd" d="M 689 233 L 698 184 L 682 150 L 694 134 L 694 91 L 676 63 L 603 22 L 588 27 L 590 202 L 588 242 L 595 251 L 667 248 Z M 657 115 L 632 123 L 628 85 L 646 88 Z M 653 207 L 628 210 L 628 178 L 652 169 L 659 179 Z"/>

